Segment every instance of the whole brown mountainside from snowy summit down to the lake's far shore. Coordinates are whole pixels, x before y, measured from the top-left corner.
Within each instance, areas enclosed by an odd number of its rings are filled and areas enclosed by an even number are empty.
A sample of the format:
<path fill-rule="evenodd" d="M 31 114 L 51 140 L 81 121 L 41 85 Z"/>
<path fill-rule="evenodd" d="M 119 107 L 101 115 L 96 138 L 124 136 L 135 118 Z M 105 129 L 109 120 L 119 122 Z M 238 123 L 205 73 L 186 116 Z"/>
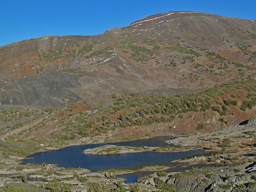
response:
<path fill-rule="evenodd" d="M 236 126 L 256 112 L 255 40 L 255 21 L 168 12 L 2 46 L 0 139 L 59 148 Z"/>

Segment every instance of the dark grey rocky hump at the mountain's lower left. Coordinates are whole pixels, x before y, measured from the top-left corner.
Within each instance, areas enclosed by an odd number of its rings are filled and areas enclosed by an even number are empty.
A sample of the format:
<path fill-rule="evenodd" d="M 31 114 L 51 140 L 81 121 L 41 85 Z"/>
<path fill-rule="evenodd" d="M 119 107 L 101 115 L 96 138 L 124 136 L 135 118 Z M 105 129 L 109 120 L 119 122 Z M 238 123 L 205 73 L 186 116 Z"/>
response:
<path fill-rule="evenodd" d="M 40 76 L 19 79 L 7 85 L 1 92 L 2 104 L 53 106 L 71 103 L 81 99 L 70 89 L 75 88 L 74 80 L 63 72 L 48 72 Z"/>

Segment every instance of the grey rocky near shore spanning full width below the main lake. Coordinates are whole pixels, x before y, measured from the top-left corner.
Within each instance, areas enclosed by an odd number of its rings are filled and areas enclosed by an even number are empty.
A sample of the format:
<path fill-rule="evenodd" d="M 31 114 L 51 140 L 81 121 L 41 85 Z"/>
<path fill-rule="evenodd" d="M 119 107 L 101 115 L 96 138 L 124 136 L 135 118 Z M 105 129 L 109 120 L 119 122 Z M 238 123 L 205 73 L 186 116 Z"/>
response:
<path fill-rule="evenodd" d="M 6 176 L 1 177 L 0 187 L 11 184 L 15 187 L 27 187 L 43 190 L 40 186 L 47 186 L 49 182 L 61 183 L 71 186 L 72 192 L 86 192 L 87 183 L 98 183 L 107 190 L 124 188 L 129 191 L 138 190 L 157 191 L 160 186 L 166 185 L 173 191 L 234 191 L 238 189 L 254 190 L 256 187 L 256 163 L 254 153 L 239 156 L 236 153 L 217 154 L 214 156 L 200 156 L 185 160 L 172 161 L 174 166 L 150 166 L 136 171 L 154 171 L 153 174 L 138 178 L 134 184 L 125 184 L 124 178 L 116 178 L 116 175 L 130 174 L 132 170 L 104 170 L 97 173 L 82 168 L 61 168 L 53 164 L 16 166 L 14 169 L 2 170 Z M 11 163 L 11 162 L 9 162 Z M 197 168 L 196 164 L 204 163 L 206 166 Z M 218 163 L 218 167 L 207 166 Z M 225 165 L 227 164 L 227 165 Z M 191 170 L 182 172 L 165 172 L 165 170 L 179 166 L 195 165 Z M 222 165 L 222 166 L 221 166 Z M 16 178 L 14 178 L 16 177 Z M 22 177 L 22 178 L 19 178 Z M 26 177 L 36 179 L 28 181 Z M 41 179 L 42 181 L 38 181 Z"/>

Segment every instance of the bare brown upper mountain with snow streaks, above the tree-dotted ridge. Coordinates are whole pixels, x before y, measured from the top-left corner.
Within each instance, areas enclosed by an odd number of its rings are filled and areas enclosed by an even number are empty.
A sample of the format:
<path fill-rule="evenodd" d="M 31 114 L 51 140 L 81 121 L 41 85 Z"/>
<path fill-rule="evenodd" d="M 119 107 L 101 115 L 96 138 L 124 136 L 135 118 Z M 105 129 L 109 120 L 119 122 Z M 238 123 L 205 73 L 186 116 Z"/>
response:
<path fill-rule="evenodd" d="M 97 36 L 0 47 L 0 103 L 62 106 L 112 93 L 175 95 L 254 75 L 255 21 L 169 12 Z"/>

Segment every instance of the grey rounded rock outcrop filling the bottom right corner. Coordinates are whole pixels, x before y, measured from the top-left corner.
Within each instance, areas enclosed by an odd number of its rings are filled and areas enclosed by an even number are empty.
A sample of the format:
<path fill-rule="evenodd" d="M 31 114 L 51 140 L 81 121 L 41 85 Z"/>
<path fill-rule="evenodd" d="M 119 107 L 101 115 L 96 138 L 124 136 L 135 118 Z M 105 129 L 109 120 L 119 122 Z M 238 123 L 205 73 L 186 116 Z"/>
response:
<path fill-rule="evenodd" d="M 204 167 L 179 173 L 167 173 L 166 176 L 150 174 L 136 182 L 157 186 L 159 181 L 173 184 L 176 190 L 184 192 L 232 191 L 256 187 L 256 163 L 245 163 L 236 166 Z"/>

